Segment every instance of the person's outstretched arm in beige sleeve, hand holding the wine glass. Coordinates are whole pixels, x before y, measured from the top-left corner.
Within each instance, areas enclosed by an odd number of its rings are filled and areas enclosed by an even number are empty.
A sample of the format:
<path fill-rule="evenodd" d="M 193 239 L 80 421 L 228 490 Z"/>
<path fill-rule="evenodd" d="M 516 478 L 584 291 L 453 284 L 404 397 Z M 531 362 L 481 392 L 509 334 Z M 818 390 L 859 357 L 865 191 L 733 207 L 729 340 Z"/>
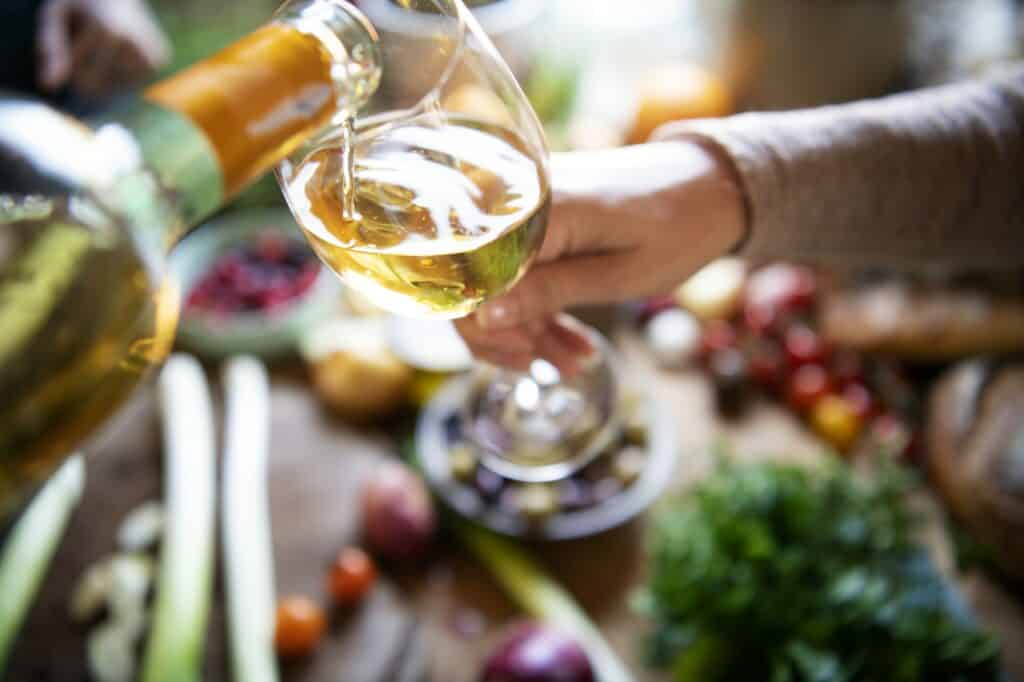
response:
<path fill-rule="evenodd" d="M 1024 265 L 1024 70 L 682 122 L 657 138 L 556 157 L 541 263 L 460 324 L 474 351 L 513 367 L 531 354 L 570 365 L 550 315 L 664 293 L 737 246 L 753 258 L 844 266 Z"/>

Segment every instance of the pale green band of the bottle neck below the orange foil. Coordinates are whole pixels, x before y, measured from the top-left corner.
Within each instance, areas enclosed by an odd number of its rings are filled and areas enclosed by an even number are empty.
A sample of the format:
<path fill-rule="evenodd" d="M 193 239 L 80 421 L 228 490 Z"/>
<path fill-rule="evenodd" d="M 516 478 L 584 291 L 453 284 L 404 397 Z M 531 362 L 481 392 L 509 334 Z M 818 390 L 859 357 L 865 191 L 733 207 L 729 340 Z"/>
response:
<path fill-rule="evenodd" d="M 118 112 L 116 121 L 131 130 L 145 166 L 169 195 L 182 228 L 220 208 L 224 201 L 220 162 L 195 123 L 144 99 Z"/>

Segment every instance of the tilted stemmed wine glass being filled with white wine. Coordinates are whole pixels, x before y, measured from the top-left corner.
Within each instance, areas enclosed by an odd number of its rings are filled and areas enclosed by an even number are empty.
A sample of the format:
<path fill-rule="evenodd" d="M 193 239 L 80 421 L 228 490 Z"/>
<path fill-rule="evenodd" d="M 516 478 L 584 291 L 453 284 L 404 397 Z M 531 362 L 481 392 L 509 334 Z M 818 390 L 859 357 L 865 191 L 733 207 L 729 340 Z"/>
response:
<path fill-rule="evenodd" d="M 550 206 L 543 128 L 462 0 L 360 0 L 379 34 L 381 81 L 278 168 L 292 212 L 347 286 L 399 315 L 457 318 L 525 273 Z M 563 381 L 477 365 L 463 421 L 508 478 L 556 480 L 616 431 L 607 344 Z"/>

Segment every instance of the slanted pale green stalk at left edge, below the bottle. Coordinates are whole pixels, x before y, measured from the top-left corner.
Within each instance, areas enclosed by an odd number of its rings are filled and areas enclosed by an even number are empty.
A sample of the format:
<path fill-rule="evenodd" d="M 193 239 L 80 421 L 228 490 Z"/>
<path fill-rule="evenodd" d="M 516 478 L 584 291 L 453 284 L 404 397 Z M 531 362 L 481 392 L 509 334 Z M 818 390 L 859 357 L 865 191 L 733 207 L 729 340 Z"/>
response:
<path fill-rule="evenodd" d="M 85 463 L 74 455 L 25 510 L 0 553 L 0 678 L 84 487 Z"/>

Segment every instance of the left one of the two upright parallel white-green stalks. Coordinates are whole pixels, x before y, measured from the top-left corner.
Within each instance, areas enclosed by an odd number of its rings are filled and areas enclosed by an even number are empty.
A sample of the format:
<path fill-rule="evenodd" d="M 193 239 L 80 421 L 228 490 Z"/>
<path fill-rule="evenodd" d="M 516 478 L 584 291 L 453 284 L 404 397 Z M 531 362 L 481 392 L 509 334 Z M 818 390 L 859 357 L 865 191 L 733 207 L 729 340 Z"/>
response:
<path fill-rule="evenodd" d="M 172 355 L 158 382 L 167 523 L 142 682 L 198 682 L 213 582 L 216 458 L 203 369 Z"/>

